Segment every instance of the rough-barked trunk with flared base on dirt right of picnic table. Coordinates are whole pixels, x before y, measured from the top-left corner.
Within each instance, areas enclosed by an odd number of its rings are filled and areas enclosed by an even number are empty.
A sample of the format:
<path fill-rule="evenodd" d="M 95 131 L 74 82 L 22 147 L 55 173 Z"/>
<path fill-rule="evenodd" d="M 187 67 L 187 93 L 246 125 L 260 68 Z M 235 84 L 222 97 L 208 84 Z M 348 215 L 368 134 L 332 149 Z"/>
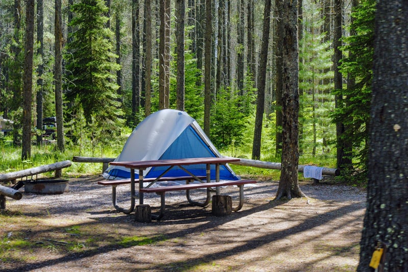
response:
<path fill-rule="evenodd" d="M 297 41 L 297 0 L 291 2 L 278 0 L 285 36 L 282 52 L 282 170 L 276 199 L 302 197 L 304 194 L 298 185 L 298 41 Z"/>

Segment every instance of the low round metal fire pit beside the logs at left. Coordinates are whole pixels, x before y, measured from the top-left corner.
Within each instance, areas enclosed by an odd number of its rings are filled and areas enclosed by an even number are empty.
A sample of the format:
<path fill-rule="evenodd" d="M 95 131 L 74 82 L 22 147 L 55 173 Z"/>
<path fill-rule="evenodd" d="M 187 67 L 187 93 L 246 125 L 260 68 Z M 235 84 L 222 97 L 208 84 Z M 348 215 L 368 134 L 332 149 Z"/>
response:
<path fill-rule="evenodd" d="M 36 180 L 24 182 L 24 192 L 62 194 L 69 192 L 67 180 Z"/>

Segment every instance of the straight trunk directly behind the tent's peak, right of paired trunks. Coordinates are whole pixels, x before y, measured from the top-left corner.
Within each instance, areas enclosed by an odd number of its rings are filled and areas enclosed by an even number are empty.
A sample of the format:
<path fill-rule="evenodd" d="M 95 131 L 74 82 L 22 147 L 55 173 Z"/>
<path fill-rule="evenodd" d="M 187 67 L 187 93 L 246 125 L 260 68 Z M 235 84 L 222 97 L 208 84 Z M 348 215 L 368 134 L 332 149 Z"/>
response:
<path fill-rule="evenodd" d="M 175 0 L 176 43 L 177 43 L 177 110 L 184 111 L 184 20 L 186 7 L 184 0 Z"/>

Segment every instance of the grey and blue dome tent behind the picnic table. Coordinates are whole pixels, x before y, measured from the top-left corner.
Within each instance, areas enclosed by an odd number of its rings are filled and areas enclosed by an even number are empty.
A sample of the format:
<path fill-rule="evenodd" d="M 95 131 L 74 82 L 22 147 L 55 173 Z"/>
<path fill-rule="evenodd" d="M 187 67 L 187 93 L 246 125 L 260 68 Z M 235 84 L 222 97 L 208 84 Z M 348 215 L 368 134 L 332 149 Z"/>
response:
<path fill-rule="evenodd" d="M 134 129 L 115 161 L 147 161 L 165 159 L 221 157 L 197 121 L 184 111 L 165 109 L 147 116 Z M 206 165 L 187 165 L 186 169 L 196 176 L 206 176 Z M 212 167 L 215 167 L 214 165 Z M 145 178 L 162 174 L 164 167 L 147 168 Z M 138 175 L 138 171 L 136 175 Z M 212 174 L 215 171 L 211 171 Z M 185 176 L 178 167 L 172 168 L 164 177 Z M 122 166 L 109 166 L 104 172 L 107 179 L 129 179 L 130 170 Z M 215 179 L 212 176 L 211 179 Z M 228 165 L 220 166 L 220 180 L 239 180 Z"/>

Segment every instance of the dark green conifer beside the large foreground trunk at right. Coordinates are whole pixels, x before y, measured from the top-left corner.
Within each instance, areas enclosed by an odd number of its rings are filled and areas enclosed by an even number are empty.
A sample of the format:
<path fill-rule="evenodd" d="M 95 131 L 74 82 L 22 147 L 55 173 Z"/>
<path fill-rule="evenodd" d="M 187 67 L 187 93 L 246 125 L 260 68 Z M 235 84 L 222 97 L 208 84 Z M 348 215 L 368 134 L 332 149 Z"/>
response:
<path fill-rule="evenodd" d="M 349 54 L 343 59 L 341 71 L 351 73 L 355 84 L 351 89 L 339 90 L 345 103 L 331 116 L 334 121 L 341 121 L 349 128 L 342 137 L 351 139 L 353 143 L 355 172 L 351 176 L 359 174 L 355 176 L 358 180 L 367 178 L 375 4 L 375 0 L 367 0 L 352 13 L 355 19 L 351 28 L 355 35 L 345 39 L 347 45 L 343 51 Z"/>

